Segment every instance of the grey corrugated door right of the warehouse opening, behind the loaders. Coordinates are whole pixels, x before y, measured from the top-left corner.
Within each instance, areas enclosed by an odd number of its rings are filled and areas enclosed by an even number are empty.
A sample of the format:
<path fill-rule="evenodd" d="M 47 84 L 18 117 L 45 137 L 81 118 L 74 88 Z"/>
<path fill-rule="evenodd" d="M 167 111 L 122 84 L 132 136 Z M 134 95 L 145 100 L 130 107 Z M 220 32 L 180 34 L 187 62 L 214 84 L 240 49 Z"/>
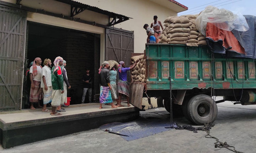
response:
<path fill-rule="evenodd" d="M 127 66 L 131 64 L 131 53 L 134 52 L 133 32 L 106 29 L 105 41 L 106 61 L 124 61 Z M 130 82 L 130 77 L 127 79 Z"/>

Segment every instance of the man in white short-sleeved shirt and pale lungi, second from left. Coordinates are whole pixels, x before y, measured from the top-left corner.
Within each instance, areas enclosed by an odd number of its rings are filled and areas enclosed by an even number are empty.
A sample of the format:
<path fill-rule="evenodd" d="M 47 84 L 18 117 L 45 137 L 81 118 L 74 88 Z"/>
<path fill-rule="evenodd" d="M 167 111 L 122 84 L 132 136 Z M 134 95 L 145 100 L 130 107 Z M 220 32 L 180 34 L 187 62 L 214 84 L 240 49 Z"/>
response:
<path fill-rule="evenodd" d="M 52 61 L 49 58 L 45 58 L 44 67 L 42 68 L 41 88 L 44 94 L 44 107 L 42 112 L 51 112 L 46 108 L 46 104 L 52 102 L 52 79 L 51 79 L 51 67 Z"/>

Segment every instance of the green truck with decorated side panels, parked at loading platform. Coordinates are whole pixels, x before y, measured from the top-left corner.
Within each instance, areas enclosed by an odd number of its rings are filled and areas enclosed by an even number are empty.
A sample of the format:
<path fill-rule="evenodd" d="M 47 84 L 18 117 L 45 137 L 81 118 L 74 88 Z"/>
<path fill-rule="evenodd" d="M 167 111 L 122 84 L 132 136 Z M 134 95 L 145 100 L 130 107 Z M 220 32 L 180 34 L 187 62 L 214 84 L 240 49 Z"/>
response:
<path fill-rule="evenodd" d="M 218 112 L 216 103 L 256 104 L 256 61 L 251 58 L 226 58 L 212 53 L 208 46 L 176 44 L 146 44 L 144 58 L 143 97 L 156 97 L 158 107 L 170 112 L 171 89 L 173 111 L 182 111 L 195 124 L 214 122 Z M 131 83 L 130 88 L 132 103 L 143 87 Z M 214 101 L 214 96 L 224 99 Z M 141 102 L 133 104 L 141 107 Z"/>

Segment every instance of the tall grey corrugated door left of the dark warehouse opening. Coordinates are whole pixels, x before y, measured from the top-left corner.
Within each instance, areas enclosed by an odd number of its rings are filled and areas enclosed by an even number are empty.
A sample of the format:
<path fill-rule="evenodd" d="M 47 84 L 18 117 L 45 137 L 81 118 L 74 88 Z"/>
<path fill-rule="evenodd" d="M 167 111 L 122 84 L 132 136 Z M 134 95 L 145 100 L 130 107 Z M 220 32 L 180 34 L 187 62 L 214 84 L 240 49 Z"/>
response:
<path fill-rule="evenodd" d="M 0 111 L 20 108 L 26 16 L 0 5 Z"/>

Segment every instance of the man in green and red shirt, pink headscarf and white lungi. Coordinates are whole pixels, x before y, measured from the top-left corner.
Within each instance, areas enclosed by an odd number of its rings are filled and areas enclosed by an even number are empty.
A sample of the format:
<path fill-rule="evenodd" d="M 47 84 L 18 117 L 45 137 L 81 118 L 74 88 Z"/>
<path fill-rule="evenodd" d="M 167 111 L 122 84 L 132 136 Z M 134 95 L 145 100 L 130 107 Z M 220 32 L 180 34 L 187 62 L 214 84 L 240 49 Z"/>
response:
<path fill-rule="evenodd" d="M 63 65 L 63 58 L 58 56 L 54 60 L 52 68 L 52 116 L 62 115 L 56 112 L 56 107 L 64 104 L 63 72 L 60 66 Z"/>

